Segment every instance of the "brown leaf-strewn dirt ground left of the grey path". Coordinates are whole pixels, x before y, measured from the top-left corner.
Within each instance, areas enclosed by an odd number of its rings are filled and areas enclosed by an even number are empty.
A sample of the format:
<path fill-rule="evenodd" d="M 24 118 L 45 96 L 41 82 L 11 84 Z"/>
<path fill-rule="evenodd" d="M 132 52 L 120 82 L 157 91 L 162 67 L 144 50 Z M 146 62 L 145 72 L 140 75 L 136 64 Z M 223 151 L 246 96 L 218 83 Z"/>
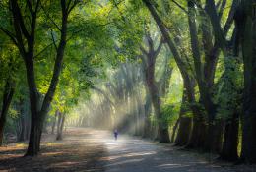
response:
<path fill-rule="evenodd" d="M 23 157 L 26 143 L 0 147 L 0 171 L 104 171 L 100 158 L 106 150 L 103 143 L 91 140 L 91 135 L 85 129 L 69 129 L 63 141 L 44 135 L 37 157 Z"/>

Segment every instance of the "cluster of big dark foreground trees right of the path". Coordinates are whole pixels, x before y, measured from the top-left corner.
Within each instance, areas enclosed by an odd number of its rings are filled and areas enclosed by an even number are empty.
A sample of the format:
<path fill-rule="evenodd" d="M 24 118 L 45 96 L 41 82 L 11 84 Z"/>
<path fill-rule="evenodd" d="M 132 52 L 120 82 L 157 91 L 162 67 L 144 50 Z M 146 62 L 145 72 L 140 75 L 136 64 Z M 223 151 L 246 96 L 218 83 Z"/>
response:
<path fill-rule="evenodd" d="M 225 12 L 228 3 L 230 9 Z M 187 15 L 190 56 L 193 62 L 191 64 L 192 73 L 188 73 L 185 68 L 189 63 L 182 59 L 181 52 L 174 44 L 175 40 L 168 33 L 168 26 L 164 24 L 164 20 L 152 2 L 144 0 L 144 4 L 167 42 L 184 80 L 186 96 L 193 113 L 193 126 L 187 146 L 203 147 L 208 151 L 221 152 L 221 157 L 228 160 L 235 160 L 238 157 L 238 126 L 239 117 L 241 117 L 241 159 L 255 162 L 253 137 L 255 115 L 254 105 L 251 104 L 255 103 L 253 102 L 255 80 L 253 79 L 254 67 L 250 66 L 254 63 L 253 56 L 255 55 L 253 54 L 255 49 L 253 47 L 255 40 L 253 36 L 255 30 L 253 27 L 254 3 L 254 1 L 239 2 L 235 0 L 221 1 L 220 4 L 215 3 L 214 0 L 206 0 L 204 3 L 187 1 L 184 7 L 183 4 L 176 3 Z M 168 9 L 166 9 L 167 11 Z M 247 34 L 250 36 L 248 37 Z M 248 52 L 250 55 L 247 54 Z M 215 74 L 218 70 L 217 62 L 221 60 L 220 58 L 223 58 L 224 71 L 218 82 L 215 82 Z M 249 66 L 246 64 L 248 61 L 250 61 Z M 239 71 L 242 64 L 244 68 Z M 243 73 L 242 80 L 238 78 L 239 73 Z M 195 98 L 194 87 L 191 86 L 190 81 L 193 80 L 196 81 L 199 90 L 198 100 Z M 218 86 L 220 83 L 222 86 Z M 218 91 L 221 97 L 214 96 Z M 218 118 L 218 113 L 224 118 Z M 224 141 L 222 140 L 223 135 Z"/>

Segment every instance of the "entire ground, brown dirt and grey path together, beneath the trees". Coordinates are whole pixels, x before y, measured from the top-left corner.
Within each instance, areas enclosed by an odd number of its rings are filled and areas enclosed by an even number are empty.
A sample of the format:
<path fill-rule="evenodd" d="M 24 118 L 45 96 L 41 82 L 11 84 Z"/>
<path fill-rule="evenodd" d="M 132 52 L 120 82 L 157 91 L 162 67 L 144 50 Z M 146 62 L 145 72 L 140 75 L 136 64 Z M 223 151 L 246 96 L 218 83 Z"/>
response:
<path fill-rule="evenodd" d="M 109 132 L 92 129 L 70 128 L 63 141 L 44 135 L 37 157 L 23 157 L 26 146 L 10 143 L 0 147 L 0 171 L 256 172 L 256 166 L 215 161 L 213 154 L 126 135 L 114 141 Z"/>

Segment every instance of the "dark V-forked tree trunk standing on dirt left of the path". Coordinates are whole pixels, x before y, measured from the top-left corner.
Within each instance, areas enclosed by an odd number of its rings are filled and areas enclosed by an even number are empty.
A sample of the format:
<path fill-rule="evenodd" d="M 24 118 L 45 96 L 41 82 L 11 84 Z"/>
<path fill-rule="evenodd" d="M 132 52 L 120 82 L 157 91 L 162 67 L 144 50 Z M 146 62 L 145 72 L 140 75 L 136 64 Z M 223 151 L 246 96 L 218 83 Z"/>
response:
<path fill-rule="evenodd" d="M 35 102 L 38 102 L 38 95 L 36 95 L 37 91 L 35 91 L 36 85 L 35 85 L 34 76 L 33 76 L 34 75 L 33 62 L 31 62 L 33 55 L 27 58 L 27 61 L 29 61 L 29 63 L 28 62 L 26 63 L 26 67 L 27 67 L 27 73 L 28 73 L 27 77 L 28 77 L 28 83 L 29 83 L 30 94 L 31 94 L 32 127 L 31 127 L 30 143 L 29 143 L 29 147 L 26 155 L 32 155 L 32 156 L 37 155 L 38 151 L 40 150 L 40 140 L 41 140 L 41 134 L 43 129 L 43 122 L 48 113 L 50 103 L 53 99 L 53 96 L 56 90 L 56 86 L 58 85 L 58 82 L 59 82 L 59 76 L 62 69 L 62 63 L 63 63 L 63 57 L 64 57 L 64 50 L 66 47 L 67 22 L 68 22 L 67 20 L 68 20 L 68 10 L 69 10 L 69 9 L 66 9 L 65 1 L 61 1 L 61 6 L 62 6 L 61 38 L 57 48 L 57 55 L 56 55 L 56 60 L 54 64 L 53 76 L 51 78 L 50 86 L 42 102 L 41 108 L 38 108 L 37 105 L 34 105 Z"/>

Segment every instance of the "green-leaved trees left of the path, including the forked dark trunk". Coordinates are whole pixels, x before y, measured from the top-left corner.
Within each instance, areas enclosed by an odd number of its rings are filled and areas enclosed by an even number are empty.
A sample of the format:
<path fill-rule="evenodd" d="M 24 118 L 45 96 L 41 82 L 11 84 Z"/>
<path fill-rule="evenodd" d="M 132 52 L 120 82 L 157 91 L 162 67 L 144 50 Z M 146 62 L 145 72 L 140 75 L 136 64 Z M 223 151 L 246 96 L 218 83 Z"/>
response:
<path fill-rule="evenodd" d="M 10 132 L 30 135 L 26 155 L 33 156 L 47 126 L 54 131 L 58 122 L 61 139 L 65 116 L 103 77 L 103 59 L 118 58 L 114 38 L 123 26 L 113 25 L 121 19 L 112 2 L 4 0 L 0 6 L 0 143 Z"/>

